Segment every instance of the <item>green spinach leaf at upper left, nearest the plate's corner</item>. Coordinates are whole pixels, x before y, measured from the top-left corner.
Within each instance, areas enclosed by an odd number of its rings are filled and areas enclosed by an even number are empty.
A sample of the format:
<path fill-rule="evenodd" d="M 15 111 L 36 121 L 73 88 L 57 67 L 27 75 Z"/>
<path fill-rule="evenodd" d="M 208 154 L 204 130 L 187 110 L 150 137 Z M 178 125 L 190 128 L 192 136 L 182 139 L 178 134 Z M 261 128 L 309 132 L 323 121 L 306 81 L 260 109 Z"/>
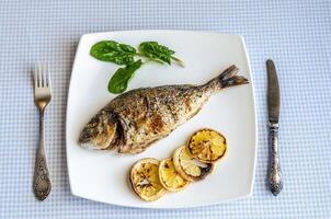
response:
<path fill-rule="evenodd" d="M 129 65 L 134 62 L 136 49 L 129 45 L 119 44 L 114 41 L 102 41 L 92 46 L 90 55 L 101 61 Z"/>

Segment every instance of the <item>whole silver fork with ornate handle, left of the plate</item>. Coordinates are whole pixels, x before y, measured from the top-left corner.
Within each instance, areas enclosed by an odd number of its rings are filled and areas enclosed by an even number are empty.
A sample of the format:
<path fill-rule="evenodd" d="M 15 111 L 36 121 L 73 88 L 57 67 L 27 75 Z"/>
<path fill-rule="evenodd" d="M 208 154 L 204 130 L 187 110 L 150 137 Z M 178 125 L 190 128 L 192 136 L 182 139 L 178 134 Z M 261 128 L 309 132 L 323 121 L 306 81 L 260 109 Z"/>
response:
<path fill-rule="evenodd" d="M 44 112 L 52 99 L 48 66 L 35 66 L 33 78 L 34 103 L 39 111 L 39 146 L 35 160 L 33 192 L 37 199 L 44 200 L 50 193 L 52 188 L 44 147 Z"/>

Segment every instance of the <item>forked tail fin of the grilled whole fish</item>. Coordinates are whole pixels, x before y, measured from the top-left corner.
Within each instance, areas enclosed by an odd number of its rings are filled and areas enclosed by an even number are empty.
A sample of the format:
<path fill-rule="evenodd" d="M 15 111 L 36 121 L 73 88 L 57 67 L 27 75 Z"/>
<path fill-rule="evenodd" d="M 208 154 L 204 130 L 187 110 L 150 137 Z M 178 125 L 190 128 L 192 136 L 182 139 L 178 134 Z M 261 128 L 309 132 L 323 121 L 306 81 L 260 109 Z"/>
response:
<path fill-rule="evenodd" d="M 235 85 L 249 83 L 248 79 L 242 76 L 237 76 L 239 69 L 232 65 L 221 72 L 218 77 L 208 81 L 205 87 L 212 91 L 221 90 Z"/>

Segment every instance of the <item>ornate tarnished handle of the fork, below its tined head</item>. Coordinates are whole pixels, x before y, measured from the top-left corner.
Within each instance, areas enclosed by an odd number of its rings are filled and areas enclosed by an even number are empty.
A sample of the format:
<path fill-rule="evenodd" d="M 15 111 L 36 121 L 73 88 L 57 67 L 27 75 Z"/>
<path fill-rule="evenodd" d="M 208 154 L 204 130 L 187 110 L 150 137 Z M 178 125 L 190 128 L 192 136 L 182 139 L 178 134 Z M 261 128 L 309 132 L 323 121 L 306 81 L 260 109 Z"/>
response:
<path fill-rule="evenodd" d="M 33 192 L 37 199 L 44 200 L 50 193 L 50 180 L 44 148 L 44 111 L 39 114 L 39 147 L 37 149 L 33 176 Z"/>

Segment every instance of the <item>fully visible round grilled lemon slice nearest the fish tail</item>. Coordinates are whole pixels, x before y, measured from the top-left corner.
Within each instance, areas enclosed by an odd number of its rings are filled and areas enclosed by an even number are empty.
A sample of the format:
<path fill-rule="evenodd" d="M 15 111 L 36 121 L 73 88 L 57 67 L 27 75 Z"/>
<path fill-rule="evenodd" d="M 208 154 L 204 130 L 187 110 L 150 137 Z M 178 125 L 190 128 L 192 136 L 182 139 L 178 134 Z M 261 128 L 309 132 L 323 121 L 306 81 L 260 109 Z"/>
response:
<path fill-rule="evenodd" d="M 197 160 L 205 163 L 215 163 L 227 151 L 226 138 L 212 129 L 202 129 L 192 135 L 187 149 Z"/>

